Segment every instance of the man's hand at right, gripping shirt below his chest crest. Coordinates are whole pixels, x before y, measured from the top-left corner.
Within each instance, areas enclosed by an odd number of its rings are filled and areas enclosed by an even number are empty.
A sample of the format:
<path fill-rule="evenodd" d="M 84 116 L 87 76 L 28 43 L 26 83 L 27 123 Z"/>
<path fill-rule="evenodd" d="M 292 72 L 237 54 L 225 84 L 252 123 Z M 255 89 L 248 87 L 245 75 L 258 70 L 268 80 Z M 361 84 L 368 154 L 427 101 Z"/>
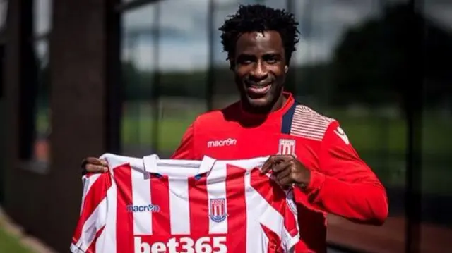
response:
<path fill-rule="evenodd" d="M 292 155 L 270 156 L 263 164 L 261 172 L 265 174 L 269 171 L 272 171 L 275 179 L 283 187 L 297 185 L 305 190 L 311 178 L 311 172 Z"/>

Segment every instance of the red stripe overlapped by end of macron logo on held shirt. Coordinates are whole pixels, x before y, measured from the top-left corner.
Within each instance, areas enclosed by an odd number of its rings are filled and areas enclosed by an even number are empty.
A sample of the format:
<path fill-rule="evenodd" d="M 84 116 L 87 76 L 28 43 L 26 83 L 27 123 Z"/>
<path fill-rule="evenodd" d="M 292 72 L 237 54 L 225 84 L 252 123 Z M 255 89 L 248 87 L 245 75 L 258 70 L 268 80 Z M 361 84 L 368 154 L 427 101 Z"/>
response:
<path fill-rule="evenodd" d="M 171 219 L 169 217 L 169 183 L 166 175 L 151 176 L 150 199 L 160 211 L 153 212 L 153 235 L 171 235 Z"/>

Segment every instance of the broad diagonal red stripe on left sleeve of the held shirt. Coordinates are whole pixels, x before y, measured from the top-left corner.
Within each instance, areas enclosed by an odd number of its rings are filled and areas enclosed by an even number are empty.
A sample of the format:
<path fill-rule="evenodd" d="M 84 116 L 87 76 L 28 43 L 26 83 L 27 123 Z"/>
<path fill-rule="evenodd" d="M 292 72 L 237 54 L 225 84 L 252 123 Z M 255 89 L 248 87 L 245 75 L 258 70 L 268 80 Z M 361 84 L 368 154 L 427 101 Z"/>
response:
<path fill-rule="evenodd" d="M 100 202 L 102 202 L 102 199 L 107 197 L 107 190 L 111 186 L 112 180 L 109 174 L 99 175 L 97 180 L 91 185 L 82 203 L 82 212 L 78 219 L 76 230 L 73 233 L 72 242 L 74 245 L 78 245 L 77 242 L 80 240 L 85 222 L 90 218 Z"/>

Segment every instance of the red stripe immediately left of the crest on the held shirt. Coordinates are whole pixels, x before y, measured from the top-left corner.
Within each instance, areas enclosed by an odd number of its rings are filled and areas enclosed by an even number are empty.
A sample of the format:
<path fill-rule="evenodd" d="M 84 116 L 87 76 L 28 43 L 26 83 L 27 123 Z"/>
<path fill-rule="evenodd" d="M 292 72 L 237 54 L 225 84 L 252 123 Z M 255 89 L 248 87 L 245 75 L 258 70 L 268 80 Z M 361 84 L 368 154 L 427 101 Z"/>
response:
<path fill-rule="evenodd" d="M 209 233 L 209 209 L 206 177 L 189 178 L 190 234 L 201 237 Z"/>

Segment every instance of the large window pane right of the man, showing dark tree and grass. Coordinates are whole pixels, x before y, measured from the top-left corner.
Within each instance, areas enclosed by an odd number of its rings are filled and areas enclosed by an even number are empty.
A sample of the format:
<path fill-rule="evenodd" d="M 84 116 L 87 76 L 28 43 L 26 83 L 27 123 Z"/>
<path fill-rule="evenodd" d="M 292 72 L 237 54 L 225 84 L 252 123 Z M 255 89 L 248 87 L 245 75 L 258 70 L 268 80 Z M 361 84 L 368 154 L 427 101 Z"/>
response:
<path fill-rule="evenodd" d="M 381 245 L 391 245 L 386 251 L 403 252 L 405 210 L 410 206 L 405 202 L 408 122 L 402 80 L 407 78 L 408 56 L 417 54 L 407 48 L 418 43 L 406 40 L 411 35 L 404 33 L 412 29 L 412 23 L 403 22 L 411 15 L 408 1 L 294 4 L 301 32 L 292 66 L 298 100 L 338 119 L 359 155 L 383 181 L 390 202 L 390 218 L 381 227 L 368 229 L 331 216 L 328 240 L 369 252 L 382 251 Z M 432 182 L 430 186 L 441 181 Z"/>

